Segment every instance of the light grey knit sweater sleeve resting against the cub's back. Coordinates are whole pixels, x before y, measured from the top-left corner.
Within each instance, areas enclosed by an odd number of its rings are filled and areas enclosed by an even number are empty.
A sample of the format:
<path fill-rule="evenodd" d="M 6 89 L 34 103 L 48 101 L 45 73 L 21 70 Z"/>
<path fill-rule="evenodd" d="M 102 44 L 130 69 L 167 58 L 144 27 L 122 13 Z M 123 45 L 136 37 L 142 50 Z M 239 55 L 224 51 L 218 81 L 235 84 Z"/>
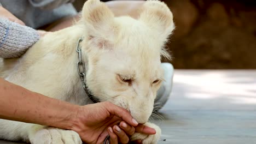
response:
<path fill-rule="evenodd" d="M 38 40 L 35 29 L 0 18 L 0 57 L 20 57 Z"/>

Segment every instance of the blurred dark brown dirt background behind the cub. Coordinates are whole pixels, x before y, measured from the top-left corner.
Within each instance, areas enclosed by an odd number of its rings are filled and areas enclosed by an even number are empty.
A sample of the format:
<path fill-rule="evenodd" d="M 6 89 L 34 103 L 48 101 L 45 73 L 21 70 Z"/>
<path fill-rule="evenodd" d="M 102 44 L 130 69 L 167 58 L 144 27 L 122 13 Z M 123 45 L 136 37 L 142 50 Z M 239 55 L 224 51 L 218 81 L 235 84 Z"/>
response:
<path fill-rule="evenodd" d="M 79 9 L 78 1 L 74 5 Z M 164 2 L 176 23 L 167 44 L 174 68 L 256 69 L 256 1 Z"/>

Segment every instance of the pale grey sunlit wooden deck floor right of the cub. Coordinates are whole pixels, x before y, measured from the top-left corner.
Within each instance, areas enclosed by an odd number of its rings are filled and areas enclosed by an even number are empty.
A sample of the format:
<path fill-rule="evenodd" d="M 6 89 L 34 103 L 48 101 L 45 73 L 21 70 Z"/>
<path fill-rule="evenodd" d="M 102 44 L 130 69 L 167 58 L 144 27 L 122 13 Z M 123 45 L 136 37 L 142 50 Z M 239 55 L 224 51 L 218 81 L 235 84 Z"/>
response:
<path fill-rule="evenodd" d="M 254 144 L 256 70 L 176 70 L 170 99 L 153 121 L 163 144 Z"/>

